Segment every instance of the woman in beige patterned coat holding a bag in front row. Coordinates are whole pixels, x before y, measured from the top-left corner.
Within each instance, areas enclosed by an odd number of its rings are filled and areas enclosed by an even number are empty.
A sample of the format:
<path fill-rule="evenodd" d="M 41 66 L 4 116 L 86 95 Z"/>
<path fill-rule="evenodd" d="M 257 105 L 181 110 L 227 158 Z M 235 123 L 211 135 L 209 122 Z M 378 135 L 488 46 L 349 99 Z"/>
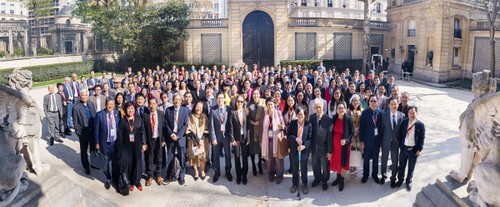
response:
<path fill-rule="evenodd" d="M 205 152 L 209 150 L 207 116 L 203 113 L 203 102 L 194 105 L 188 120 L 186 131 L 188 137 L 189 163 L 194 168 L 194 180 L 205 179 Z M 200 167 L 200 170 L 198 170 Z M 199 175 L 201 173 L 201 175 Z"/>

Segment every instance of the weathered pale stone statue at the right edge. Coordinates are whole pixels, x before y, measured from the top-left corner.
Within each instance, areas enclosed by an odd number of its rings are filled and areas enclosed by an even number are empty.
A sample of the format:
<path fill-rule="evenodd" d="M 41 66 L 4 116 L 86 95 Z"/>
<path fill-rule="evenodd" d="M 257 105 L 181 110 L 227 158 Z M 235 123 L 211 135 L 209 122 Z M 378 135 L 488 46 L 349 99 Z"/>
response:
<path fill-rule="evenodd" d="M 478 206 L 500 206 L 500 92 L 490 71 L 473 75 L 474 100 L 460 116 L 462 161 L 450 177 L 469 182 L 469 198 Z"/>

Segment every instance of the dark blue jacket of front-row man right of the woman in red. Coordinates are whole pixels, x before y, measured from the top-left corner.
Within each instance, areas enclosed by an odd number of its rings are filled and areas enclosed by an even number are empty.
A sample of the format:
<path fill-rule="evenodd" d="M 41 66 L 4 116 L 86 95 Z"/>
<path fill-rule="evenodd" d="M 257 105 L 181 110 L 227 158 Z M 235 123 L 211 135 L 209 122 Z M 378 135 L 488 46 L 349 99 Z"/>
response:
<path fill-rule="evenodd" d="M 361 142 L 365 143 L 365 148 L 370 148 L 371 146 L 380 147 L 380 125 L 382 125 L 382 114 L 382 110 L 379 108 L 375 111 L 367 108 L 361 113 L 359 121 L 359 139 Z M 375 124 L 373 121 L 375 121 Z M 375 136 L 375 129 L 377 129 L 377 136 Z"/>

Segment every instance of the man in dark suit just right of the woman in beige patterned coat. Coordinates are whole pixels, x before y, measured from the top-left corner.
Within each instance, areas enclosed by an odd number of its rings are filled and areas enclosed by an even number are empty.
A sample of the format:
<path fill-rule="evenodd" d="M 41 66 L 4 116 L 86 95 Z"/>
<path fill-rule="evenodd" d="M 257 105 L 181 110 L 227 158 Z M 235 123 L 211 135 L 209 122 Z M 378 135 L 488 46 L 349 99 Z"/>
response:
<path fill-rule="evenodd" d="M 213 164 L 214 164 L 214 183 L 219 180 L 220 176 L 220 154 L 224 147 L 226 158 L 226 177 L 229 182 L 233 180 L 231 175 L 231 143 L 234 142 L 233 129 L 231 125 L 231 108 L 224 104 L 224 93 L 217 94 L 217 106 L 212 108 L 209 117 L 210 140 L 213 149 Z"/>

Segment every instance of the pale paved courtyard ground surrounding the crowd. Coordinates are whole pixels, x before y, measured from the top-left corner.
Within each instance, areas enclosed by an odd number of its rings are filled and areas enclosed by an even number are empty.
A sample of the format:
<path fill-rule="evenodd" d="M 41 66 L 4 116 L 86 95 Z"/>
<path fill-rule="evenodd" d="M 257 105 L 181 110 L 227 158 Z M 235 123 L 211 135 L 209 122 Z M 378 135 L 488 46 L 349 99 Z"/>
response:
<path fill-rule="evenodd" d="M 424 150 L 417 161 L 411 192 L 407 192 L 403 187 L 391 189 L 388 182 L 381 186 L 371 178 L 367 183 L 361 184 L 361 171 L 358 171 L 356 178 L 346 178 L 343 192 L 339 192 L 338 187 L 329 186 L 328 191 L 323 191 L 321 186 L 318 186 L 310 188 L 309 194 L 302 195 L 299 201 L 296 194 L 289 191 L 291 175 L 285 175 L 283 182 L 276 185 L 268 182 L 266 171 L 264 175 L 255 177 L 250 169 L 247 185 L 237 185 L 235 181 L 229 183 L 225 176 L 221 176 L 221 179 L 213 184 L 213 170 L 204 181 L 194 181 L 190 176 L 192 170 L 188 167 L 184 186 L 178 183 L 157 186 L 153 183 L 142 192 L 136 189 L 129 196 L 122 196 L 113 188 L 104 189 L 103 174 L 100 171 L 92 170 L 90 176 L 85 175 L 80 164 L 76 135 L 68 137 L 63 144 L 56 143 L 50 147 L 43 141 L 42 159 L 73 182 L 118 206 L 411 206 L 422 187 L 434 183 L 436 178 L 444 177 L 450 170 L 459 168 L 458 121 L 473 94 L 466 90 L 433 88 L 416 82 L 397 81 L 397 84 L 400 85 L 400 91 L 410 93 L 412 103 L 419 107 L 419 118 L 427 129 Z M 31 91 L 39 106 L 42 105 L 42 97 L 46 93 L 46 87 Z M 44 137 L 45 134 L 44 129 Z M 285 165 L 288 169 L 287 160 Z M 310 185 L 313 180 L 311 168 L 308 175 Z M 332 173 L 332 177 L 333 175 Z M 329 184 L 332 180 L 330 179 Z M 144 180 L 142 182 L 144 185 Z"/>

